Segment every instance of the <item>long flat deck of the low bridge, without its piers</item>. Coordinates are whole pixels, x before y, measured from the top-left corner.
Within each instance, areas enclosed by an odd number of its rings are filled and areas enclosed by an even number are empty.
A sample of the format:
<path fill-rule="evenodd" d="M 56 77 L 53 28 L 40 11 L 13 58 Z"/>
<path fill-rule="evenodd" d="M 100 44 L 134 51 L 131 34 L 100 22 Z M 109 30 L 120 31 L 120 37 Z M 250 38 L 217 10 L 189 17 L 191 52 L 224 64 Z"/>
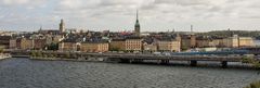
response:
<path fill-rule="evenodd" d="M 13 52 L 29 54 L 30 52 Z M 44 54 L 66 55 L 68 52 L 42 52 Z M 77 58 L 107 58 L 120 60 L 171 60 L 171 61 L 227 61 L 242 62 L 242 56 L 221 56 L 221 55 L 155 55 L 155 54 L 133 54 L 133 53 L 84 53 L 84 52 L 69 52 L 76 54 Z"/>

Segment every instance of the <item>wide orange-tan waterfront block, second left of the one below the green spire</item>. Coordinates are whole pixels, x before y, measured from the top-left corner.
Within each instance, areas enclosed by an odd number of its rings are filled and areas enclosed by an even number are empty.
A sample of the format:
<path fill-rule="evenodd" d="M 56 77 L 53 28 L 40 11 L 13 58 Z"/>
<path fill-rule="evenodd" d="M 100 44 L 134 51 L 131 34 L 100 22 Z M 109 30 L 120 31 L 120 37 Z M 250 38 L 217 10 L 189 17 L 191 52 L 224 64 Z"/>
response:
<path fill-rule="evenodd" d="M 108 42 L 99 41 L 99 42 L 81 42 L 80 51 L 82 52 L 107 52 Z"/>

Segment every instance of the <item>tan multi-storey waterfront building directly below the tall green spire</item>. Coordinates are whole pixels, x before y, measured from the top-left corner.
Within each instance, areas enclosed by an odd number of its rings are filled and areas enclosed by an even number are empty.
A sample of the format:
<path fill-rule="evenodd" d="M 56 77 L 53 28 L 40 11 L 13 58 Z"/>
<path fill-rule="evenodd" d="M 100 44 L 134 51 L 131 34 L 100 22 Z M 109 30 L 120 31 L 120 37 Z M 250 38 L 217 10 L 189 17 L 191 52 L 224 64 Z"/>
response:
<path fill-rule="evenodd" d="M 129 37 L 126 39 L 127 51 L 142 51 L 142 39 L 140 37 Z"/>

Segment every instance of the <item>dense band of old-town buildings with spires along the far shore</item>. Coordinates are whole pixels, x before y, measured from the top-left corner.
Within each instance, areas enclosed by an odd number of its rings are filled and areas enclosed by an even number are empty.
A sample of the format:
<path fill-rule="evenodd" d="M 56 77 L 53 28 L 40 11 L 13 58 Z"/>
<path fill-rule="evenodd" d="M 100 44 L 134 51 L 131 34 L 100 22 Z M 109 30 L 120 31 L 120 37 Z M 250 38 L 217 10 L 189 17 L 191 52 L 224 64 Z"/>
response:
<path fill-rule="evenodd" d="M 193 26 L 192 26 L 193 27 Z M 69 30 L 69 32 L 67 32 Z M 58 50 L 81 52 L 181 52 L 196 48 L 255 47 L 253 38 L 238 35 L 205 36 L 193 33 L 146 33 L 141 35 L 139 12 L 133 32 L 83 32 L 66 29 L 61 20 L 58 29 L 40 29 L 36 33 L 0 36 L 1 49 Z"/>

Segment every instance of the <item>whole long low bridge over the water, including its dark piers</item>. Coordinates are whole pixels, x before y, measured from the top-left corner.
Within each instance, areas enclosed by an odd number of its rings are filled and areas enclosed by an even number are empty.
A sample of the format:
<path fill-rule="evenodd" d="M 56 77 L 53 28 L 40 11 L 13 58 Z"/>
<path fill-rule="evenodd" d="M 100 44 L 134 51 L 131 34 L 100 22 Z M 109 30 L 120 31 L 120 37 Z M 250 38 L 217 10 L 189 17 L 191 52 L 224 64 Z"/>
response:
<path fill-rule="evenodd" d="M 27 54 L 30 51 L 12 52 L 11 54 Z M 89 60 L 90 58 L 102 58 L 105 62 L 118 63 L 144 63 L 156 62 L 157 64 L 169 64 L 170 61 L 187 61 L 192 66 L 196 66 L 197 62 L 214 61 L 221 62 L 222 67 L 227 67 L 227 62 L 243 62 L 242 55 L 162 55 L 162 54 L 134 54 L 134 53 L 87 53 L 87 52 L 56 52 L 56 51 L 42 51 L 47 56 L 55 54 L 55 58 L 65 59 L 69 55 L 72 60 Z M 259 61 L 259 60 L 258 60 Z"/>

